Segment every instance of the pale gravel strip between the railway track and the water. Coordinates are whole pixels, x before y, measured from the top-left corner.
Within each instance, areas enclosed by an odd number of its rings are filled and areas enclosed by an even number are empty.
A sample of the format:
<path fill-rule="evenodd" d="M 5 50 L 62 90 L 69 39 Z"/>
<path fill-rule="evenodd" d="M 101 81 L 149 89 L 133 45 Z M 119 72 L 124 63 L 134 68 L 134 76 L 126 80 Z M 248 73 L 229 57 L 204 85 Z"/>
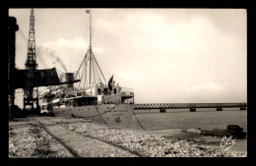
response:
<path fill-rule="evenodd" d="M 197 144 L 178 138 L 165 138 L 149 135 L 144 131 L 107 128 L 94 123 L 70 123 L 59 120 L 57 123 L 71 131 L 93 138 L 100 138 L 139 153 L 143 157 L 246 157 L 246 152 L 225 151 L 210 145 Z"/>

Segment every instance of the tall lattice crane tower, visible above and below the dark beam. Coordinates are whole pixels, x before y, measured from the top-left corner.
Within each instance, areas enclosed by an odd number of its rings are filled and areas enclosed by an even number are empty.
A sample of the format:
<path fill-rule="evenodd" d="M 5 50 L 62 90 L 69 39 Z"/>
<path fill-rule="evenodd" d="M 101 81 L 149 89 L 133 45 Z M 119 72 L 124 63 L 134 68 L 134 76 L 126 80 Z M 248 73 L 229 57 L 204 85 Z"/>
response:
<path fill-rule="evenodd" d="M 34 37 L 34 16 L 33 9 L 31 10 L 30 18 L 30 32 L 28 43 L 28 58 L 25 67 L 29 71 L 37 69 L 36 56 L 35 56 L 35 37 Z M 39 111 L 38 105 L 38 87 L 24 88 L 24 109 L 32 113 Z"/>

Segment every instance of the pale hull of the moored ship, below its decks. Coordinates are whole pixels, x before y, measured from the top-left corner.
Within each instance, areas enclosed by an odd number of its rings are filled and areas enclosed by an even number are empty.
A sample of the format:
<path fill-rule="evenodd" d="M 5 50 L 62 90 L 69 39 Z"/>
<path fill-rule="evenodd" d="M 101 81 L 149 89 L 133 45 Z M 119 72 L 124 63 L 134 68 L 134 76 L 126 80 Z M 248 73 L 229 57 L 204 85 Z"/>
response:
<path fill-rule="evenodd" d="M 55 116 L 80 117 L 114 127 L 128 127 L 132 120 L 133 104 L 100 104 L 67 108 L 52 108 Z"/>

